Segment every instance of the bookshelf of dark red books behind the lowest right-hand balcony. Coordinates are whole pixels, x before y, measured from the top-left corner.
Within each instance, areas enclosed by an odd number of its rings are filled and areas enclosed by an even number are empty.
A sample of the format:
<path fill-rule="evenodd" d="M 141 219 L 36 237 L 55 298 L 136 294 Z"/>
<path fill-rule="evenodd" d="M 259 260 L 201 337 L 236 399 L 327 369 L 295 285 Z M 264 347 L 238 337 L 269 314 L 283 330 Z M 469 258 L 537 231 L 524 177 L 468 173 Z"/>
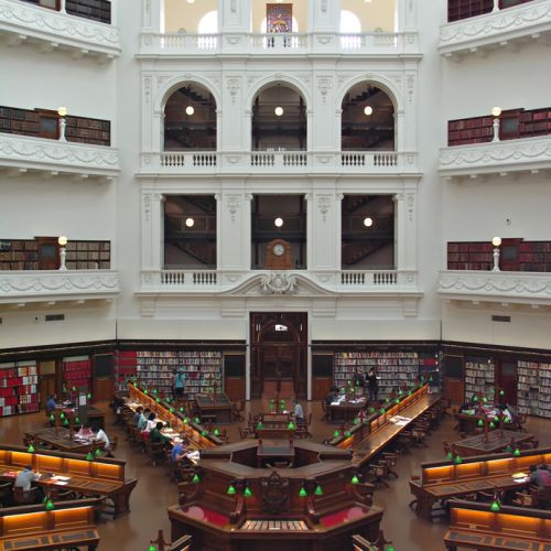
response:
<path fill-rule="evenodd" d="M 515 255 L 501 255 L 501 269 L 523 272 L 551 272 L 551 241 L 508 240 L 501 246 L 515 247 Z M 449 270 L 491 270 L 494 248 L 489 241 L 451 241 L 447 244 Z M 507 258 L 506 258 L 507 257 Z M 509 258 L 510 257 L 510 258 Z"/>

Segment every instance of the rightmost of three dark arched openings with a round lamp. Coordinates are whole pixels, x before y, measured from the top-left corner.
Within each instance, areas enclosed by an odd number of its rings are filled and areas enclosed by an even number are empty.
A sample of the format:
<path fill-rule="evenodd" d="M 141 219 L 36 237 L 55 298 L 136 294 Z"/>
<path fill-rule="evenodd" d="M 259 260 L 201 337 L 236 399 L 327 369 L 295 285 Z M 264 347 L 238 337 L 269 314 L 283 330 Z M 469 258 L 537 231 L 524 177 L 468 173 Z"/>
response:
<path fill-rule="evenodd" d="M 395 105 L 388 94 L 370 83 L 356 84 L 342 110 L 342 151 L 395 150 Z"/>

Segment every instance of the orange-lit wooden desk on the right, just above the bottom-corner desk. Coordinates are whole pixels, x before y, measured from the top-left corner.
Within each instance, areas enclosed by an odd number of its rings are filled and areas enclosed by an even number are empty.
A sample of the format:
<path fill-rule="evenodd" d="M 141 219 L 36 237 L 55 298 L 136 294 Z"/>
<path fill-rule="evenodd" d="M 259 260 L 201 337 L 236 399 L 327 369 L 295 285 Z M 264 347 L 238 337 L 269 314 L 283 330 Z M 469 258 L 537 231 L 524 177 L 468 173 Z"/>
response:
<path fill-rule="evenodd" d="M 530 472 L 530 466 L 551 463 L 551 449 L 510 454 L 479 455 L 467 457 L 456 465 L 450 461 L 421 464 L 421 477 L 410 480 L 410 490 L 417 499 L 419 516 L 431 519 L 433 505 L 477 491 L 522 489 L 529 480 L 515 482 L 515 473 Z"/>

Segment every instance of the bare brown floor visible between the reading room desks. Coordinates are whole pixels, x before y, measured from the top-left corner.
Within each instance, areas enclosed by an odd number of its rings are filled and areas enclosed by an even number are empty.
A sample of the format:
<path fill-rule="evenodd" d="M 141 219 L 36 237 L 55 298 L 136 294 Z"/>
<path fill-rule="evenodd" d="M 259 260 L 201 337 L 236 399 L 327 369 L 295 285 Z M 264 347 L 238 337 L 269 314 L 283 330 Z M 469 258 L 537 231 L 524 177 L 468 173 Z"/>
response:
<path fill-rule="evenodd" d="M 247 406 L 247 413 L 258 412 L 260 401 L 252 401 Z M 321 421 L 322 412 L 320 404 L 303 404 L 307 413 L 312 411 L 312 434 L 315 442 L 322 442 L 332 436 L 335 425 Z M 107 408 L 102 408 L 107 410 Z M 116 456 L 127 460 L 127 476 L 139 478 L 138 486 L 132 493 L 130 507 L 132 512 L 117 520 L 101 522 L 98 527 L 101 541 L 98 547 L 100 551 L 136 551 L 148 549 L 150 539 L 156 537 L 160 528 L 170 534 L 170 525 L 166 516 L 166 507 L 176 504 L 177 495 L 175 486 L 170 483 L 166 469 L 163 466 L 152 467 L 148 465 L 144 455 L 129 449 L 125 439 L 125 432 L 112 425 L 112 417 L 109 412 L 106 418 L 106 430 L 108 435 L 119 436 L 119 447 Z M 44 425 L 44 413 L 32 413 L 17 415 L 0 420 L 0 442 L 21 444 L 22 434 L 25 431 L 39 429 Z M 442 428 L 429 437 L 428 449 L 413 450 L 403 455 L 398 462 L 399 478 L 390 482 L 390 488 L 379 489 L 375 494 L 375 505 L 385 509 L 382 528 L 387 539 L 392 540 L 397 550 L 401 551 L 433 551 L 444 549 L 442 538 L 446 531 L 445 522 L 426 522 L 419 519 L 408 507 L 412 499 L 408 480 L 410 475 L 418 474 L 419 463 L 425 461 L 439 461 L 444 458 L 442 441 L 454 442 L 458 440 L 457 432 L 453 430 L 454 421 L 446 419 Z M 238 425 L 228 428 L 230 442 L 239 440 Z M 551 421 L 531 418 L 527 423 L 527 430 L 539 439 L 541 446 L 551 445 Z M 344 547 L 343 547 L 344 550 Z"/>

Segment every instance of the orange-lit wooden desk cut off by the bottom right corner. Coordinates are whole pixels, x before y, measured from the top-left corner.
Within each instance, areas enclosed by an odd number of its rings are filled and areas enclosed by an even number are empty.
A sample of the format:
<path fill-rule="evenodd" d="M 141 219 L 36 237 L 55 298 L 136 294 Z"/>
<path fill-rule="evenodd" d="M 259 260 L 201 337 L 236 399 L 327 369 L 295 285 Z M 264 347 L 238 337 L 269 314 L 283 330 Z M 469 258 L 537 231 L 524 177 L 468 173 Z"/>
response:
<path fill-rule="evenodd" d="M 551 551 L 551 512 L 507 506 L 493 512 L 487 504 L 452 500 L 444 544 L 450 551 Z"/>

